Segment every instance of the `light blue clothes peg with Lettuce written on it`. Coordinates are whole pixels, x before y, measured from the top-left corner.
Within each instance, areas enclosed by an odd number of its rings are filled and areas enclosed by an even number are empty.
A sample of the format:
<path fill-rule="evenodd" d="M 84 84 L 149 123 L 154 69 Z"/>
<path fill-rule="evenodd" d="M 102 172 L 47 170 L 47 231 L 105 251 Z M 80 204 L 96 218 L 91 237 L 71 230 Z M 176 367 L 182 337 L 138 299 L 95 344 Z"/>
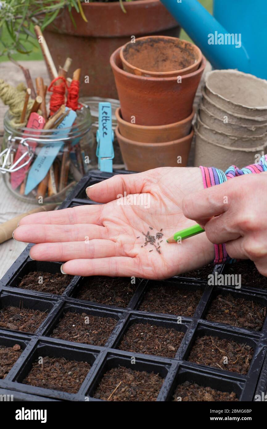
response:
<path fill-rule="evenodd" d="M 114 131 L 112 130 L 111 103 L 99 103 L 98 112 L 98 130 L 96 132 L 98 168 L 100 171 L 112 173 Z"/>

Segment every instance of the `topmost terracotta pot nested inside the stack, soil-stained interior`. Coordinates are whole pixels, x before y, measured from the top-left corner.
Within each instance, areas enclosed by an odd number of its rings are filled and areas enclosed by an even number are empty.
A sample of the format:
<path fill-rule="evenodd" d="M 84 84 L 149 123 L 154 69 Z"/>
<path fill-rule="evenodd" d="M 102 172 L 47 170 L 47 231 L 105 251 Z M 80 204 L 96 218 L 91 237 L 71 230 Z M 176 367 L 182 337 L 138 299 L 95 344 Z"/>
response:
<path fill-rule="evenodd" d="M 198 69 L 202 52 L 193 43 L 167 36 L 146 36 L 128 42 L 120 51 L 123 70 L 137 76 L 167 78 Z"/>

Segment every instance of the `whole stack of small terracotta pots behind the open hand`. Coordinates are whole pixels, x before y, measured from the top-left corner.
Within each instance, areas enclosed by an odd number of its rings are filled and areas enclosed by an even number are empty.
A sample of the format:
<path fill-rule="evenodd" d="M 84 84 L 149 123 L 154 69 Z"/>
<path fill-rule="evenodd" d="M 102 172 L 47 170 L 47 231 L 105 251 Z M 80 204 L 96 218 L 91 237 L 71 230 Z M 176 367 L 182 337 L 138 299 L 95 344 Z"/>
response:
<path fill-rule="evenodd" d="M 115 133 L 126 168 L 186 166 L 193 101 L 206 65 L 199 48 L 147 36 L 117 49 L 110 61 L 120 99 Z"/>

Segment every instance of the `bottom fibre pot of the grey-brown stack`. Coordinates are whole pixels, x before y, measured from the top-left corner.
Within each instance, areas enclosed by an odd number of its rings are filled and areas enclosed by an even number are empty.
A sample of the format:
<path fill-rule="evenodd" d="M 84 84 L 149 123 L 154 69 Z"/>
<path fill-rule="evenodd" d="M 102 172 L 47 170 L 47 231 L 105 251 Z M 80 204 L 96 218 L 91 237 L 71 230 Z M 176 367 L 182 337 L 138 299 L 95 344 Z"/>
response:
<path fill-rule="evenodd" d="M 212 143 L 198 132 L 195 127 L 195 167 L 209 166 L 222 170 L 228 169 L 232 164 L 239 168 L 253 164 L 255 156 L 261 155 L 267 147 L 264 145 L 254 148 L 234 148 Z"/>

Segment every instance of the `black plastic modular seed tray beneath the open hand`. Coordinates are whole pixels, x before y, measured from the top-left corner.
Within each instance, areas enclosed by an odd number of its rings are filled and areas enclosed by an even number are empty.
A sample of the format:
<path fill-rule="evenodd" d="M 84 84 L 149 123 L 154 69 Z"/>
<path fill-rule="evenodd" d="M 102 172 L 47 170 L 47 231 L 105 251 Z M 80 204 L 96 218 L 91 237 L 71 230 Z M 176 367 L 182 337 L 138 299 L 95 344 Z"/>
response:
<path fill-rule="evenodd" d="M 129 174 L 129 172 L 115 171 L 114 174 Z M 61 208 L 74 207 L 83 204 L 96 204 L 90 201 L 85 189 L 90 184 L 97 183 L 111 177 L 111 173 L 91 171 L 75 189 L 70 193 L 61 205 Z M 23 276 L 32 271 L 45 271 L 51 273 L 60 272 L 60 262 L 38 262 L 30 260 L 28 245 L 18 257 L 8 272 L 0 280 L 0 309 L 6 305 L 25 306 L 40 309 L 47 312 L 47 317 L 38 327 L 36 332 L 14 332 L 0 329 L 0 346 L 12 347 L 20 344 L 22 353 L 17 362 L 10 369 L 5 379 L 0 380 L 0 395 L 13 395 L 17 401 L 101 401 L 94 398 L 94 393 L 101 381 L 103 374 L 111 368 L 125 366 L 138 371 L 158 373 L 164 379 L 159 391 L 157 401 L 172 401 L 178 384 L 185 381 L 208 386 L 222 392 L 234 392 L 239 401 L 253 401 L 255 394 L 264 395 L 267 392 L 267 320 L 260 331 L 255 332 L 244 327 L 230 326 L 224 323 L 211 322 L 205 319 L 212 300 L 217 295 L 232 293 L 243 299 L 259 302 L 267 305 L 267 288 L 255 289 L 251 285 L 240 290 L 232 286 L 210 286 L 207 281 L 207 272 L 201 277 L 190 277 L 190 274 L 176 276 L 166 281 L 147 281 L 136 279 L 136 290 L 129 296 L 127 307 L 108 305 L 108 303 L 90 302 L 78 299 L 79 288 L 83 281 L 90 281 L 90 277 L 75 276 L 66 286 L 62 295 L 53 295 L 33 290 L 18 288 Z M 223 273 L 225 266 L 211 266 L 210 273 Z M 237 272 L 238 274 L 238 272 Z M 129 278 L 129 284 L 130 284 Z M 156 313 L 140 311 L 138 308 L 143 302 L 147 291 L 151 286 L 166 285 L 184 290 L 201 291 L 201 299 L 195 308 L 192 317 L 183 314 Z M 81 344 L 74 341 L 64 341 L 52 338 L 50 335 L 59 320 L 67 311 L 78 314 L 86 313 L 101 317 L 111 317 L 115 320 L 111 335 L 106 343 L 101 346 Z M 179 323 L 178 319 L 180 317 Z M 158 356 L 156 354 L 132 353 L 126 350 L 118 350 L 119 344 L 125 332 L 134 323 L 150 323 L 156 326 L 165 326 L 183 332 L 184 336 L 172 358 Z M 189 362 L 190 350 L 199 336 L 227 338 L 237 343 L 246 343 L 254 349 L 254 354 L 246 375 L 237 372 L 225 371 L 210 366 Z M 135 364 L 132 364 L 132 357 Z M 21 382 L 29 373 L 31 365 L 39 356 L 60 356 L 69 360 L 87 361 L 91 368 L 78 393 L 71 394 L 59 390 L 33 387 Z"/>

